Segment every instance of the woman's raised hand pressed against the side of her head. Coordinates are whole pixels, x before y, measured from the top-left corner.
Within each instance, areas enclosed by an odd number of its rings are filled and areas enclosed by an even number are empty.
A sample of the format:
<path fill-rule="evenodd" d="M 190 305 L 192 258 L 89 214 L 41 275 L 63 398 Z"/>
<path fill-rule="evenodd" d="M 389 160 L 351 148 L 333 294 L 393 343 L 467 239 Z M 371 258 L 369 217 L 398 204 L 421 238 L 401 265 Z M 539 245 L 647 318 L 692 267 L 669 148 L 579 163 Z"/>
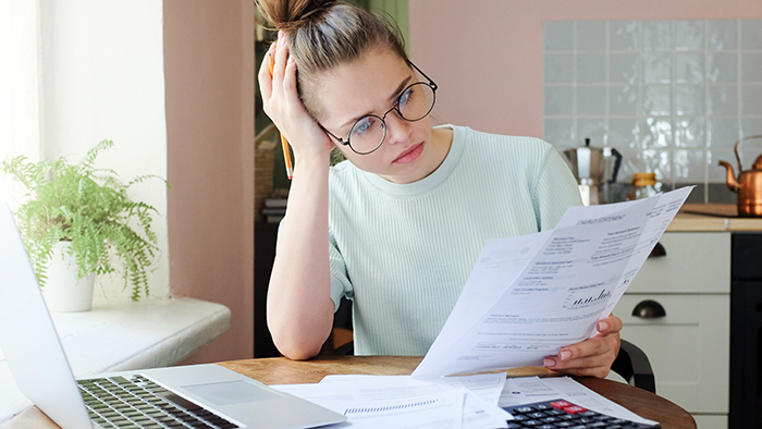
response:
<path fill-rule="evenodd" d="M 270 57 L 274 58 L 272 76 Z M 333 143 L 315 122 L 302 103 L 296 90 L 296 61 L 288 56 L 285 33 L 278 33 L 278 40 L 270 46 L 259 68 L 259 89 L 262 94 L 265 112 L 278 126 L 300 160 L 327 159 Z"/>

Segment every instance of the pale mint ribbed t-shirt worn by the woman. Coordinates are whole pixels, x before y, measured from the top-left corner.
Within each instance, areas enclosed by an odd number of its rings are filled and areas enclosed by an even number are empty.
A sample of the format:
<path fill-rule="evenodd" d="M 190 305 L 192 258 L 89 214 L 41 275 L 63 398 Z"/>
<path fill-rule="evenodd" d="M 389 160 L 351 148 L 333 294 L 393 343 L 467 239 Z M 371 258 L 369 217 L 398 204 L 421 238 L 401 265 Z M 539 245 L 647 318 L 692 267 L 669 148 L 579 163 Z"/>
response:
<path fill-rule="evenodd" d="M 486 240 L 551 229 L 581 204 L 550 144 L 445 126 L 452 147 L 418 182 L 331 168 L 331 298 L 353 301 L 356 355 L 425 355 Z"/>

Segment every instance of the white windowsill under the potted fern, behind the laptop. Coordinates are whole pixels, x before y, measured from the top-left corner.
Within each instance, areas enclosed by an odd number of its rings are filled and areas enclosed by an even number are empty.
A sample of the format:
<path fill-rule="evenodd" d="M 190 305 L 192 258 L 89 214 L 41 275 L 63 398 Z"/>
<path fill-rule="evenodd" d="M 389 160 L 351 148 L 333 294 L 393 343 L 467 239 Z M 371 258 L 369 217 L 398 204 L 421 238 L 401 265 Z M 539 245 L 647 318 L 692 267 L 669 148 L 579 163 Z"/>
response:
<path fill-rule="evenodd" d="M 228 307 L 193 298 L 107 302 L 52 314 L 74 377 L 177 364 L 230 328 Z M 34 341 L 34 340 L 30 340 Z M 0 354 L 0 427 L 32 403 Z"/>

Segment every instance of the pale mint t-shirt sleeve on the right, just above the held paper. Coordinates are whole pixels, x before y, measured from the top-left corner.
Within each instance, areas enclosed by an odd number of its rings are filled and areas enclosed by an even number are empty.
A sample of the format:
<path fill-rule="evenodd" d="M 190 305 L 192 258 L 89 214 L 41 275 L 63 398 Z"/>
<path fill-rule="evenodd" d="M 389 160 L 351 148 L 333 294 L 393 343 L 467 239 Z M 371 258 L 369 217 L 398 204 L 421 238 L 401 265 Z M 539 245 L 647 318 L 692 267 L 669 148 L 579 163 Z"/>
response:
<path fill-rule="evenodd" d="M 582 205 L 572 170 L 550 145 L 532 193 L 532 204 L 540 231 L 555 228 L 567 208 Z"/>

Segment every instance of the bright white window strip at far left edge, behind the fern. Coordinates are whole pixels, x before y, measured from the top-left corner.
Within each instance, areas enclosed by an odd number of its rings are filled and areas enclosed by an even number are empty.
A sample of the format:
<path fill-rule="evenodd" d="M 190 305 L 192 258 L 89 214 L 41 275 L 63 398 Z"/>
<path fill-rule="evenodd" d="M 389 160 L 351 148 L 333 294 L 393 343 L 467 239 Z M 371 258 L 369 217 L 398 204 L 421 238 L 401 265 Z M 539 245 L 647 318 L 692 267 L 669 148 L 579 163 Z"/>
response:
<path fill-rule="evenodd" d="M 0 0 L 0 159 L 40 157 L 39 1 Z M 15 209 L 23 188 L 0 174 L 0 197 Z"/>

